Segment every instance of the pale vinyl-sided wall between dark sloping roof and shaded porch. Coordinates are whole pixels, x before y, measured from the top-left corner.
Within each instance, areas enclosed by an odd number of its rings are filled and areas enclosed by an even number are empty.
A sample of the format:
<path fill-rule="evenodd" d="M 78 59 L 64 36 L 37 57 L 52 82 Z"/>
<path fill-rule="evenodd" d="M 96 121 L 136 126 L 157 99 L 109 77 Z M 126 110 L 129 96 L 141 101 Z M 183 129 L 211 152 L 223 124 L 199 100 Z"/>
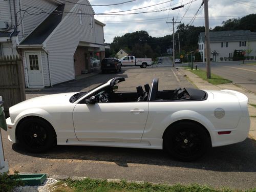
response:
<path fill-rule="evenodd" d="M 79 3 L 88 3 L 84 0 Z M 76 5 L 72 12 L 93 13 L 90 6 Z M 68 81 L 75 78 L 74 53 L 79 41 L 95 43 L 95 31 L 91 28 L 90 15 L 82 15 L 82 25 L 79 15 L 67 15 L 53 35 L 46 41 L 49 51 L 49 62 L 52 84 Z"/>

